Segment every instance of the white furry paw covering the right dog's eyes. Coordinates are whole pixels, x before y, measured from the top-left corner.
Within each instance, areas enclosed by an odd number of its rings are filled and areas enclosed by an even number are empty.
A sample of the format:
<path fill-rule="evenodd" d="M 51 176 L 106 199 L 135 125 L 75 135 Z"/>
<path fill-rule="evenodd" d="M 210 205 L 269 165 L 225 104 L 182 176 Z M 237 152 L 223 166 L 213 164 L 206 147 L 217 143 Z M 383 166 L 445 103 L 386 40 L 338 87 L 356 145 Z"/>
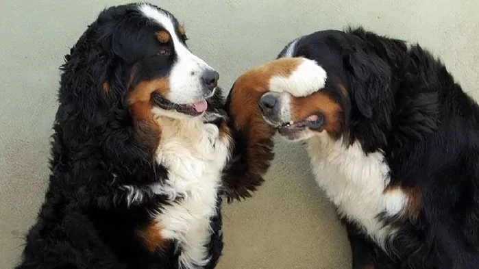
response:
<path fill-rule="evenodd" d="M 326 84 L 326 71 L 315 61 L 301 58 L 302 62 L 288 77 L 275 75 L 269 79 L 271 92 L 288 92 L 293 97 L 306 97 Z"/>

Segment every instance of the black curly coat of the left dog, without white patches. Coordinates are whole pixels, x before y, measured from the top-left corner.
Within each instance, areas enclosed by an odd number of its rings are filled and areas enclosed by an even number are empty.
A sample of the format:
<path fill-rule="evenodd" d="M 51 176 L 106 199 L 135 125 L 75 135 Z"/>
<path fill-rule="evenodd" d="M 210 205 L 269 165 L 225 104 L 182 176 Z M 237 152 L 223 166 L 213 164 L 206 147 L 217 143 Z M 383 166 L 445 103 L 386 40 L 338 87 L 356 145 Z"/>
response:
<path fill-rule="evenodd" d="M 150 126 L 134 120 L 127 103 L 132 86 L 167 75 L 175 60 L 171 44 L 155 39 L 158 27 L 137 4 L 109 8 L 65 56 L 49 188 L 17 269 L 179 268 L 182 247 L 176 242 L 152 253 L 138 237 L 151 222 L 150 213 L 169 203 L 147 188 L 169 177 L 153 159 L 158 138 L 151 136 Z M 158 56 L 160 46 L 169 46 L 171 57 Z M 221 98 L 218 91 L 208 101 L 208 112 L 225 114 Z M 127 203 L 123 185 L 143 198 Z M 225 189 L 234 192 L 228 185 Z M 197 268 L 214 268 L 221 255 L 220 207 L 218 196 L 217 214 L 210 219 L 211 259 Z"/>

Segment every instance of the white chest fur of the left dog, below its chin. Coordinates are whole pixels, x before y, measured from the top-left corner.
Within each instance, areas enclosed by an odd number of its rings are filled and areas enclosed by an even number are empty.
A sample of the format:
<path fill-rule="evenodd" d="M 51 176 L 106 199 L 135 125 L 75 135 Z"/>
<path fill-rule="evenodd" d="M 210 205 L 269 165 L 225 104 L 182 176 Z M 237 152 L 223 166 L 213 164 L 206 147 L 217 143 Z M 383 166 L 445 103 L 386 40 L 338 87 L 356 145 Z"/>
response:
<path fill-rule="evenodd" d="M 168 181 L 156 193 L 173 201 L 156 215 L 162 237 L 177 240 L 182 248 L 180 266 L 208 264 L 206 244 L 212 233 L 221 172 L 229 157 L 229 138 L 219 138 L 215 125 L 200 121 L 162 120 L 157 162 L 169 171 Z M 153 187 L 154 188 L 154 187 Z"/>

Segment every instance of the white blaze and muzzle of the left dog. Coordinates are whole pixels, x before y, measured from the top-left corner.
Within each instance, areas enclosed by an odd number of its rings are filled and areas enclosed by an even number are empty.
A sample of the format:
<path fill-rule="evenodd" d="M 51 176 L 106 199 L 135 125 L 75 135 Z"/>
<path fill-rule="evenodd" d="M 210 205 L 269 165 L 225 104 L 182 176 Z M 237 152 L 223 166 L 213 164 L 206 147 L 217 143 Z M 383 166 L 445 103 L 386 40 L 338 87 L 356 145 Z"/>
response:
<path fill-rule="evenodd" d="M 147 18 L 156 21 L 171 36 L 175 49 L 176 61 L 169 73 L 170 90 L 167 99 L 173 103 L 195 103 L 204 99 L 201 75 L 206 70 L 213 70 L 204 60 L 191 53 L 177 36 L 177 31 L 170 14 L 143 3 L 139 8 Z"/>

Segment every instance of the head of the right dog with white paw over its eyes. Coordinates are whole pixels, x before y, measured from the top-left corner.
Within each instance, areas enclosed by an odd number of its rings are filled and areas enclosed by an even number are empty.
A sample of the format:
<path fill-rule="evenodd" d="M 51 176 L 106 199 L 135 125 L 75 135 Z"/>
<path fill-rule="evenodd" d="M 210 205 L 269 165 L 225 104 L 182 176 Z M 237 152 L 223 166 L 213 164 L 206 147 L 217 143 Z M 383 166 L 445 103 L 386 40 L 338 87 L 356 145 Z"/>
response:
<path fill-rule="evenodd" d="M 319 31 L 288 44 L 278 60 L 251 68 L 235 87 L 260 92 L 260 114 L 288 140 L 326 134 L 352 141 L 369 133 L 371 143 L 385 142 L 391 67 L 371 48 L 354 34 Z"/>

